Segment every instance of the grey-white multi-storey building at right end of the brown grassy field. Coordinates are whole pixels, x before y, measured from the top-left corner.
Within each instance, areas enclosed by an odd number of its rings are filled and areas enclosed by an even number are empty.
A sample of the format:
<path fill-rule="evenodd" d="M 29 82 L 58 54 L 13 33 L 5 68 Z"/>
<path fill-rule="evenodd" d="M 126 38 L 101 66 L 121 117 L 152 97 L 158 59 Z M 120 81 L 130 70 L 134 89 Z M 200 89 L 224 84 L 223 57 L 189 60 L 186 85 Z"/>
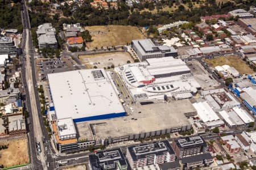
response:
<path fill-rule="evenodd" d="M 147 58 L 177 57 L 177 50 L 172 46 L 156 46 L 150 39 L 132 40 L 131 48 L 137 53 L 141 61 Z"/>

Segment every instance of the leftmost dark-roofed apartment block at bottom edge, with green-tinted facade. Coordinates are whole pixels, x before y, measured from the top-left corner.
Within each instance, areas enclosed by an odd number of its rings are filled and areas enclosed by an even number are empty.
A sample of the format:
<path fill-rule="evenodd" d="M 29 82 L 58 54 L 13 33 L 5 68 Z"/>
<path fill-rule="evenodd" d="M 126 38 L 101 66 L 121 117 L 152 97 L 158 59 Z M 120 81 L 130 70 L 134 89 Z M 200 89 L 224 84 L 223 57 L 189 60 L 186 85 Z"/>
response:
<path fill-rule="evenodd" d="M 89 169 L 105 170 L 105 169 L 130 169 L 125 160 L 125 156 L 120 148 L 113 150 L 97 151 L 95 154 L 89 155 Z"/>

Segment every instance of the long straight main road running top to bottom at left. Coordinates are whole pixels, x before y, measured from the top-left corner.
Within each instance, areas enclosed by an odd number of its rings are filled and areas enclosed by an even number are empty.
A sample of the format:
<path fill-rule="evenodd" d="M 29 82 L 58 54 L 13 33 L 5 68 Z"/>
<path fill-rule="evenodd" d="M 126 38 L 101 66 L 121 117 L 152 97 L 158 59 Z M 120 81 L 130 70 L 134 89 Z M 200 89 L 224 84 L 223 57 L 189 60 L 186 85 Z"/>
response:
<path fill-rule="evenodd" d="M 22 49 L 23 55 L 20 57 L 22 63 L 22 80 L 23 88 L 26 94 L 25 105 L 28 111 L 28 140 L 30 148 L 30 168 L 31 169 L 54 169 L 54 167 L 46 167 L 46 162 L 53 162 L 51 155 L 44 155 L 43 136 L 45 140 L 49 140 L 46 128 L 44 128 L 42 115 L 40 114 L 39 96 L 36 89 L 36 73 L 34 62 L 34 47 L 31 39 L 30 20 L 28 16 L 26 2 L 23 1 L 22 23 L 23 23 L 23 39 Z M 30 75 L 28 75 L 30 74 Z M 27 79 L 26 79 L 27 78 Z M 30 97 L 32 96 L 32 100 Z M 33 112 L 32 112 L 33 111 Z M 36 118 L 36 119 L 35 119 Z M 36 121 L 36 122 L 35 122 Z M 35 126 L 36 125 L 36 126 Z M 42 130 L 41 130 L 42 129 Z M 37 137 L 35 141 L 35 137 Z M 36 150 L 35 142 L 40 141 L 42 153 Z M 52 146 L 50 145 L 50 148 Z M 52 150 L 54 152 L 54 150 Z M 39 154 L 39 155 L 38 155 Z M 40 160 L 38 159 L 40 158 Z M 42 165 L 43 163 L 43 165 Z"/>

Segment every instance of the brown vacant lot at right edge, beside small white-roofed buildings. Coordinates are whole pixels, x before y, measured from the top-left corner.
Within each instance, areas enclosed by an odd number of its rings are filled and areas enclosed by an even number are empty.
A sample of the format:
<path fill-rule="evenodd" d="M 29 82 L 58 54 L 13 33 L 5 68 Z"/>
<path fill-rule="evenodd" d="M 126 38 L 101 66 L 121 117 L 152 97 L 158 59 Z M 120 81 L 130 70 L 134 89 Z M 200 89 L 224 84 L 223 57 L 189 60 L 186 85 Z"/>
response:
<path fill-rule="evenodd" d="M 254 71 L 248 65 L 246 65 L 245 61 L 235 55 L 205 59 L 205 62 L 207 62 L 212 67 L 229 65 L 230 67 L 237 69 L 240 74 L 254 73 Z"/>

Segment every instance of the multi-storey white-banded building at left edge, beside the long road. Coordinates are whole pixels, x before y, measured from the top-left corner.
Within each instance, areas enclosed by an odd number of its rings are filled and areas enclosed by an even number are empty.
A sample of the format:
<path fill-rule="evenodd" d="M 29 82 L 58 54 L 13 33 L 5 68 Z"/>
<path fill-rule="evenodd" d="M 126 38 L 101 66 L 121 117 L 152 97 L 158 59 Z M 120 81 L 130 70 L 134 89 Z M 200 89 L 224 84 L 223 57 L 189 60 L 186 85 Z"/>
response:
<path fill-rule="evenodd" d="M 0 37 L 0 54 L 10 54 L 16 56 L 17 48 L 11 37 Z"/>

